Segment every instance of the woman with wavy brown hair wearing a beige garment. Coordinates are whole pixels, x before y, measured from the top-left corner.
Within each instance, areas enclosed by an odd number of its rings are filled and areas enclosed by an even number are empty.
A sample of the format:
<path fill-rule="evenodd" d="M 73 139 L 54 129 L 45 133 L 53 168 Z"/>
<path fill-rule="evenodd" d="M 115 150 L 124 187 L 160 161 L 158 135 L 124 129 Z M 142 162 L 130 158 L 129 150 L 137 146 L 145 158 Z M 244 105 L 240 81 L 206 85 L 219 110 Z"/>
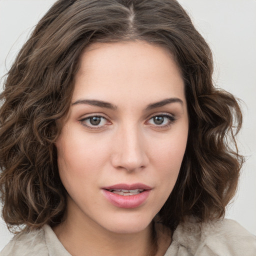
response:
<path fill-rule="evenodd" d="M 176 1 L 57 1 L 1 94 L 2 215 L 23 229 L 2 255 L 254 255 L 222 219 L 241 112 L 211 75 Z"/>

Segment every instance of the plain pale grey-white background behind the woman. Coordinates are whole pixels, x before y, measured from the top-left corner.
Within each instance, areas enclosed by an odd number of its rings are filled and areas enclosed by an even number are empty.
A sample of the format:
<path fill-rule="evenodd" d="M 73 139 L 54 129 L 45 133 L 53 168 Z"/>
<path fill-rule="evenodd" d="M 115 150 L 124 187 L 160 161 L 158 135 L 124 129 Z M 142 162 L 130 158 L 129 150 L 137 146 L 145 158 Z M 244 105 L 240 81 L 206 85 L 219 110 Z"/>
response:
<path fill-rule="evenodd" d="M 53 2 L 0 0 L 0 76 L 6 73 L 13 56 Z M 239 144 L 247 160 L 226 217 L 256 234 L 256 0 L 179 2 L 213 51 L 216 83 L 244 102 Z M 0 250 L 10 238 L 0 218 Z"/>

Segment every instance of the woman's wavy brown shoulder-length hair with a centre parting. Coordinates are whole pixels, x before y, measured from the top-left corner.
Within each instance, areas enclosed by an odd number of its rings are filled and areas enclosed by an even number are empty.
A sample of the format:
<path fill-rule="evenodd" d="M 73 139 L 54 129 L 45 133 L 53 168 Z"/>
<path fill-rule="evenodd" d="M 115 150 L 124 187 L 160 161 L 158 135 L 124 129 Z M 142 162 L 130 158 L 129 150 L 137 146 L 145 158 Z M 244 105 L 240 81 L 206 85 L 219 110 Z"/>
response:
<path fill-rule="evenodd" d="M 242 115 L 234 96 L 214 87 L 211 50 L 184 9 L 176 0 L 58 0 L 19 51 L 0 94 L 0 199 L 9 229 L 63 220 L 54 142 L 79 56 L 93 42 L 134 40 L 167 48 L 185 84 L 187 146 L 160 221 L 174 229 L 186 216 L 224 215 L 243 162 L 235 142 Z"/>

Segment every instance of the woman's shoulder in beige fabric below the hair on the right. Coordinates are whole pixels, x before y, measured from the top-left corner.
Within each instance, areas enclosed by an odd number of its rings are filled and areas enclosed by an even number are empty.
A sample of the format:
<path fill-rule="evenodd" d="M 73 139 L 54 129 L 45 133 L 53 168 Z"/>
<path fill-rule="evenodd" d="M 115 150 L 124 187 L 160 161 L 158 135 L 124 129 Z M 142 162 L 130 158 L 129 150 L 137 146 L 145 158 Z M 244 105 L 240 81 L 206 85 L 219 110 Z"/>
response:
<path fill-rule="evenodd" d="M 198 222 L 189 218 L 175 229 L 171 246 L 178 256 L 184 255 L 179 250 L 198 256 L 255 256 L 256 236 L 231 219 Z"/>

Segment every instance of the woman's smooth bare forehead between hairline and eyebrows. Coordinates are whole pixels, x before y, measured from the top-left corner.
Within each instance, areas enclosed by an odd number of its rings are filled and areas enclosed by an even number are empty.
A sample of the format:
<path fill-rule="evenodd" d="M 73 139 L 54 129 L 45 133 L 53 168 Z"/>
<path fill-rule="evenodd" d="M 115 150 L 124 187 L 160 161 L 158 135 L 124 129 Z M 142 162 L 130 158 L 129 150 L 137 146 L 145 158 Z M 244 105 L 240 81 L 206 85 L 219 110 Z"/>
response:
<path fill-rule="evenodd" d="M 167 49 L 143 41 L 93 43 L 80 56 L 73 100 L 161 100 L 180 97 L 184 83 Z"/>

